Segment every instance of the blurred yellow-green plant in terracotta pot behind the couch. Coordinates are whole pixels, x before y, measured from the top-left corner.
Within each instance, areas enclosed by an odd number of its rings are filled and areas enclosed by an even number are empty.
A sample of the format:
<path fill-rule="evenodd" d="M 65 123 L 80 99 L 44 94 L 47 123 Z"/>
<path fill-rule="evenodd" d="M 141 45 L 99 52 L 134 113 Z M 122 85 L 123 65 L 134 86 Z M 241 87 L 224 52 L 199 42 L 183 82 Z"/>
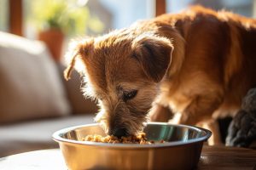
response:
<path fill-rule="evenodd" d="M 76 0 L 32 1 L 32 24 L 37 26 L 38 39 L 48 45 L 55 60 L 61 58 L 64 37 L 85 34 L 88 29 L 102 31 L 102 22 L 90 16 L 85 4 L 86 1 Z"/>

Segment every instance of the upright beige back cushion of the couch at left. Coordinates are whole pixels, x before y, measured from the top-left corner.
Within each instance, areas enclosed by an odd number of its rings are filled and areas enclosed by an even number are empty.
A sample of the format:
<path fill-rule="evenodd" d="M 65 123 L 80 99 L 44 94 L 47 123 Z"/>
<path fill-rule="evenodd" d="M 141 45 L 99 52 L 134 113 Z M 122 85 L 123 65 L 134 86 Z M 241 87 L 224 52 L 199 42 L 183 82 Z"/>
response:
<path fill-rule="evenodd" d="M 0 32 L 0 124 L 70 113 L 61 77 L 43 42 Z"/>

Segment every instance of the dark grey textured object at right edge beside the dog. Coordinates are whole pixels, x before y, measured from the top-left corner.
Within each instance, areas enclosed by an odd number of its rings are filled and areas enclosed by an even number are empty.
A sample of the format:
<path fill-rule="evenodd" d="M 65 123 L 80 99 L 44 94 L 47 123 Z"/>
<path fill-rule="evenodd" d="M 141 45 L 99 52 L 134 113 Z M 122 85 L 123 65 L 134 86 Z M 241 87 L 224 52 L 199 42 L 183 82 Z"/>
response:
<path fill-rule="evenodd" d="M 248 147 L 256 139 L 256 88 L 248 91 L 230 123 L 226 145 Z"/>

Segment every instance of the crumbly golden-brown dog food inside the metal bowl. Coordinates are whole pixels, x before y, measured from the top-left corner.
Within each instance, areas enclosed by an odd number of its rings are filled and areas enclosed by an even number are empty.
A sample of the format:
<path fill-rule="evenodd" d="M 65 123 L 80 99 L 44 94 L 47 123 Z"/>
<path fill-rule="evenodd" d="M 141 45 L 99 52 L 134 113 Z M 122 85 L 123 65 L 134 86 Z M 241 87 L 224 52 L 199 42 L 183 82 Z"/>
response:
<path fill-rule="evenodd" d="M 129 137 L 115 137 L 113 135 L 108 135 L 106 137 L 102 137 L 102 135 L 87 135 L 82 139 L 83 141 L 91 141 L 91 142 L 102 142 L 102 143 L 110 143 L 110 144 L 155 144 L 153 140 L 148 141 L 146 138 L 146 133 L 138 133 L 137 136 L 129 136 Z M 164 140 L 160 140 L 157 143 L 165 143 Z"/>

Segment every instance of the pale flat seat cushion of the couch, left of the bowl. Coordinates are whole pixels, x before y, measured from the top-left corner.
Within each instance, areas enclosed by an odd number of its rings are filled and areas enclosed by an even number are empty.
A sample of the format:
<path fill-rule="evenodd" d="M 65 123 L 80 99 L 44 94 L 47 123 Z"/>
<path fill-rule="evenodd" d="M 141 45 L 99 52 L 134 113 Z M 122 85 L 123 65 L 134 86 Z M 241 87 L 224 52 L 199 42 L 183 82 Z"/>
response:
<path fill-rule="evenodd" d="M 0 126 L 0 157 L 30 150 L 56 148 L 58 144 L 51 138 L 55 131 L 92 123 L 93 116 L 65 116 Z"/>

